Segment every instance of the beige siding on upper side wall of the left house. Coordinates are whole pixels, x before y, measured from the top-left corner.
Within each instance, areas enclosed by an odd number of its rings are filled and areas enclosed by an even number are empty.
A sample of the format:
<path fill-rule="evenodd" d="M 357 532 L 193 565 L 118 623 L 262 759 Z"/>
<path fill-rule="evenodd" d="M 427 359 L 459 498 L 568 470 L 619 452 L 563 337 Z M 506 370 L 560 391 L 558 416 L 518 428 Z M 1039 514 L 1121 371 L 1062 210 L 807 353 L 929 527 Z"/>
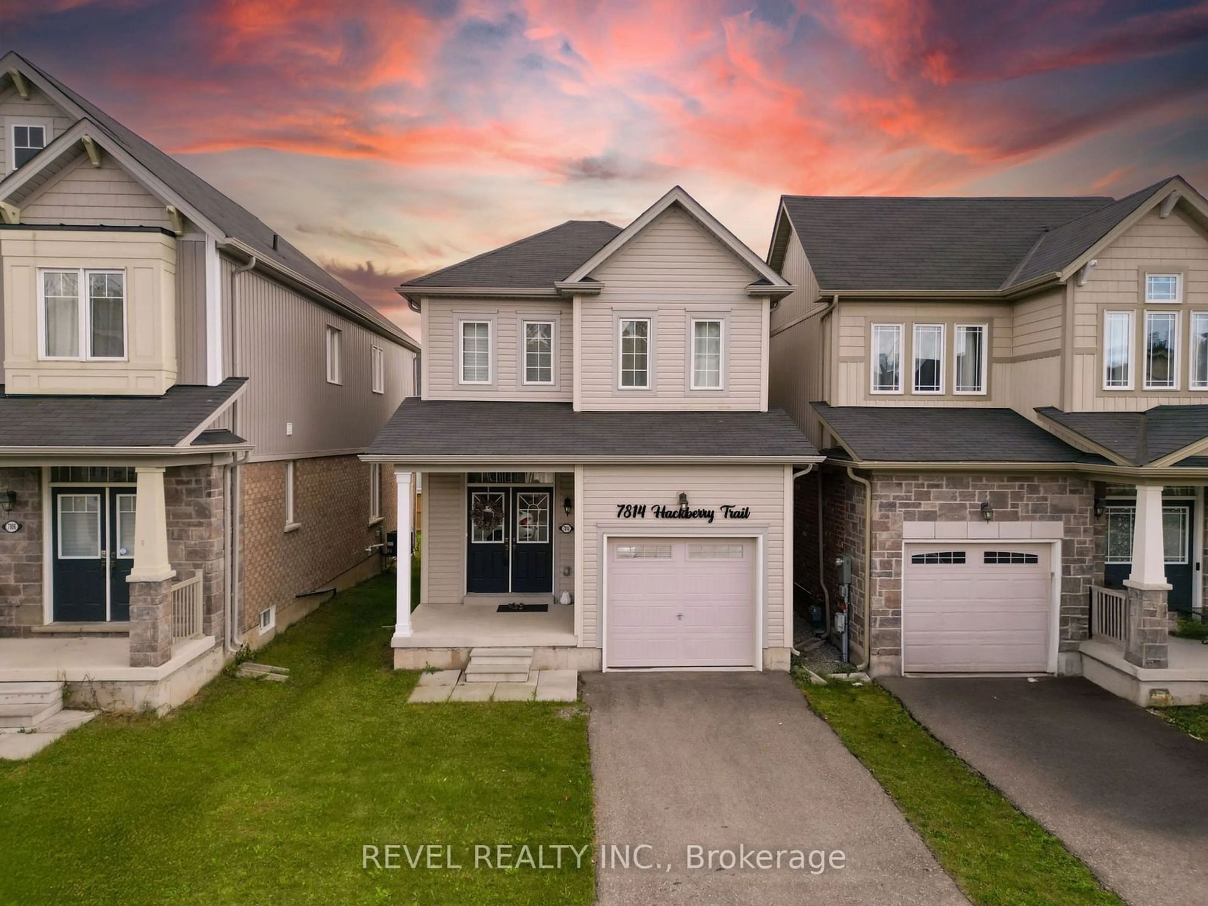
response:
<path fill-rule="evenodd" d="M 231 292 L 230 267 L 223 296 Z M 243 436 L 254 459 L 362 452 L 413 393 L 414 353 L 312 302 L 259 272 L 242 273 L 237 324 L 243 371 Z M 342 383 L 327 383 L 326 331 L 341 331 Z M 371 391 L 370 347 L 385 353 L 385 393 Z M 292 435 L 286 434 L 292 424 Z"/>

